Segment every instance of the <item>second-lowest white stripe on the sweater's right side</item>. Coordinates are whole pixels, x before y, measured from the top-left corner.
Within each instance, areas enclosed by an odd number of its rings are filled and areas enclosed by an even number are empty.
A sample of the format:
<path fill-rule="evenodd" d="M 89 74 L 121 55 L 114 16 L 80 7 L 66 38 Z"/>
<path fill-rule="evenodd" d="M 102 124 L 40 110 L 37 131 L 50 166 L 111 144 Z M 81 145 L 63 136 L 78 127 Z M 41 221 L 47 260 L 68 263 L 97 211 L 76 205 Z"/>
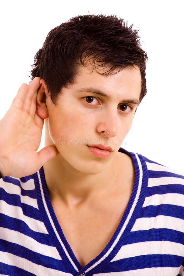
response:
<path fill-rule="evenodd" d="M 132 243 L 122 246 L 120 251 L 112 259 L 111 262 L 124 258 L 150 254 L 171 254 L 176 256 L 183 256 L 183 252 L 184 245 L 181 243 L 174 243 L 169 241 L 149 241 Z"/>

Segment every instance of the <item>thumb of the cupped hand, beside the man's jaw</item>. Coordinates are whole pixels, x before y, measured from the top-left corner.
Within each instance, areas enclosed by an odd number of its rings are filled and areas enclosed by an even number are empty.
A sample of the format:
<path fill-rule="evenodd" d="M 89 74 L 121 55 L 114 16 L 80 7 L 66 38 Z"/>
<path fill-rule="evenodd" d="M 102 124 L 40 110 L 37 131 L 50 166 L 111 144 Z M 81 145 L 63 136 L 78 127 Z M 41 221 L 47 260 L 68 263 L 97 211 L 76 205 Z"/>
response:
<path fill-rule="evenodd" d="M 40 162 L 43 166 L 44 163 L 56 157 L 59 154 L 59 151 L 57 150 L 55 145 L 49 145 L 42 148 L 40 151 L 37 152 L 37 154 L 39 155 Z"/>

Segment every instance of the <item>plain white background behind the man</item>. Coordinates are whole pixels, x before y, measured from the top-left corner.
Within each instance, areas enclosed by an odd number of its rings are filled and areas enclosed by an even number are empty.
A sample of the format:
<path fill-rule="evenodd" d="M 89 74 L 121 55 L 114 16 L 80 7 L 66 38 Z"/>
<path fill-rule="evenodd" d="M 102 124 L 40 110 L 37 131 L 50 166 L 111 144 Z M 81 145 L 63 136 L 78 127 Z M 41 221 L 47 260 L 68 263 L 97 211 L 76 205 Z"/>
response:
<path fill-rule="evenodd" d="M 140 29 L 148 53 L 147 95 L 123 147 L 184 172 L 182 1 L 1 1 L 0 118 L 22 82 L 47 33 L 78 14 L 116 14 Z M 123 127 L 123 126 L 122 126 Z M 43 147 L 41 142 L 41 147 Z"/>

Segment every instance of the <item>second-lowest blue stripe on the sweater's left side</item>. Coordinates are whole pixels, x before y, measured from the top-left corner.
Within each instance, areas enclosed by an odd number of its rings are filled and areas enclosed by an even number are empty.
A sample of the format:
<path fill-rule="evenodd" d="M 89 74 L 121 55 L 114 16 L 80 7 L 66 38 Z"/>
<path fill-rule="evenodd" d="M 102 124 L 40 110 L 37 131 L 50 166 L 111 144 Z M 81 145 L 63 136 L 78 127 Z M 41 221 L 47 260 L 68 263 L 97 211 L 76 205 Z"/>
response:
<path fill-rule="evenodd" d="M 29 260 L 32 263 L 51 268 L 54 270 L 59 270 L 63 272 L 68 272 L 66 266 L 63 264 L 62 260 L 54 259 L 52 257 L 36 253 L 26 247 L 18 245 L 16 243 L 11 243 L 6 240 L 0 240 L 0 251 L 8 252 L 15 256 Z M 41 245 L 40 245 L 41 246 Z"/>

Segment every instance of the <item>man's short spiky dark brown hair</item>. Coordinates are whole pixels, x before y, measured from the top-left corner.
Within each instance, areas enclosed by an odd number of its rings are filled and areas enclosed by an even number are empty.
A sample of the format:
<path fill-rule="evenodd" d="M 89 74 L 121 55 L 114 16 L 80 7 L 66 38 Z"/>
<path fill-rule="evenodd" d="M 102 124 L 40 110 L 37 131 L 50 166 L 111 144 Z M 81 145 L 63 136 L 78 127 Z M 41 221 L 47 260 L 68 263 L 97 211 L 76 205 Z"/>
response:
<path fill-rule="evenodd" d="M 146 95 L 147 54 L 140 47 L 138 31 L 115 15 L 77 16 L 52 29 L 35 55 L 31 79 L 44 79 L 56 104 L 62 87 L 74 83 L 78 64 L 85 66 L 88 61 L 94 68 L 98 64 L 105 66 L 106 75 L 138 66 L 142 80 L 140 101 Z"/>

